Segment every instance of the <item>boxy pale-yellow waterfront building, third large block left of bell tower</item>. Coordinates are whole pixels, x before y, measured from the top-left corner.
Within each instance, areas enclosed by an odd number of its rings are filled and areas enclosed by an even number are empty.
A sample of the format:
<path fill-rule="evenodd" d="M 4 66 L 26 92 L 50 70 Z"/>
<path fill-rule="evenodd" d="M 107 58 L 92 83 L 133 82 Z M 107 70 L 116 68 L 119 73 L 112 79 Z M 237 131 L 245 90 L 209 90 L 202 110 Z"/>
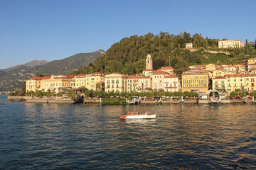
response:
<path fill-rule="evenodd" d="M 126 90 L 126 76 L 124 74 L 113 73 L 105 75 L 105 91 L 123 92 Z"/>

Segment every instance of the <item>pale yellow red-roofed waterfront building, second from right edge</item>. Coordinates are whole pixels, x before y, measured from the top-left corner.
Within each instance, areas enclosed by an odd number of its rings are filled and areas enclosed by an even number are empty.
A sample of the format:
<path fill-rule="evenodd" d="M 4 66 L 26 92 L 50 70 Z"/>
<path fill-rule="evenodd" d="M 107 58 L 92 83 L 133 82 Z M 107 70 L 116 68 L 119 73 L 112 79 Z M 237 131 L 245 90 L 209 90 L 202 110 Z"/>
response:
<path fill-rule="evenodd" d="M 225 74 L 224 77 L 227 79 L 227 91 L 245 90 L 245 75 L 244 74 Z"/>

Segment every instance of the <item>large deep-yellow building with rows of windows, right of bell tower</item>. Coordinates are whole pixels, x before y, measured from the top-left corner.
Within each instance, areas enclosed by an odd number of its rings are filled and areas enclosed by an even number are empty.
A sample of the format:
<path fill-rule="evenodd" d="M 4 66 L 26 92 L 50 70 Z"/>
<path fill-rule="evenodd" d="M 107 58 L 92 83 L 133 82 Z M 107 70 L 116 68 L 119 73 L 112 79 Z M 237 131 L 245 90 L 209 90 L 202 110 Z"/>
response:
<path fill-rule="evenodd" d="M 182 75 L 182 91 L 208 91 L 209 77 L 208 73 L 201 69 L 192 69 L 184 72 Z"/>

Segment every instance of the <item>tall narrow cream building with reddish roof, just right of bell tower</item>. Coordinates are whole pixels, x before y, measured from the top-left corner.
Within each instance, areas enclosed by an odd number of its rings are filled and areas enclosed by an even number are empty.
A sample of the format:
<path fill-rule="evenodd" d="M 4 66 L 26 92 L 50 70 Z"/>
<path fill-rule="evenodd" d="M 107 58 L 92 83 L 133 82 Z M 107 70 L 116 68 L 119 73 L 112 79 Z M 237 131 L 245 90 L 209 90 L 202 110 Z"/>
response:
<path fill-rule="evenodd" d="M 164 91 L 164 77 L 169 74 L 163 71 L 154 71 L 151 73 L 153 91 Z"/>

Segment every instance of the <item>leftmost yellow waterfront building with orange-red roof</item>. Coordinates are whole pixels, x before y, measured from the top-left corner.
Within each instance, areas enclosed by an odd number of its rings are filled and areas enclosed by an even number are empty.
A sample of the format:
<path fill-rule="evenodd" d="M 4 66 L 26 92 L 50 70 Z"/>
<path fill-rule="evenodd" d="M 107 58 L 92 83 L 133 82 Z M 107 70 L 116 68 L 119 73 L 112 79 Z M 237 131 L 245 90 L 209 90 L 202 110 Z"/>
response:
<path fill-rule="evenodd" d="M 50 79 L 50 77 L 47 77 Z M 31 79 L 26 80 L 26 92 L 34 91 L 41 89 L 42 79 L 46 79 L 46 77 L 33 77 Z"/>

